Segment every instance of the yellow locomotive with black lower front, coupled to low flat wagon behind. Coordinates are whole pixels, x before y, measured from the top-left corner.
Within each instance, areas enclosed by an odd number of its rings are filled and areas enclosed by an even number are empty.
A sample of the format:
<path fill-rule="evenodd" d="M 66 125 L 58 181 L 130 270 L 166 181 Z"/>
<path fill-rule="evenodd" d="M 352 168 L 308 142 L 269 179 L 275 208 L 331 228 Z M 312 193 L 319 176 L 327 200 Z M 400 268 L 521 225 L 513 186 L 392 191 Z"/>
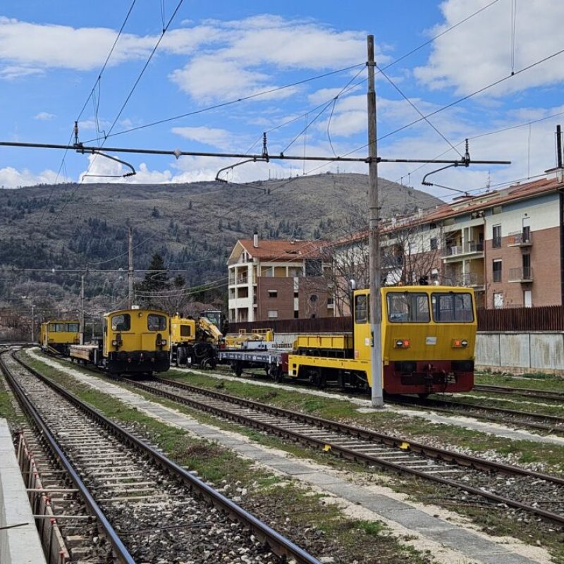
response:
<path fill-rule="evenodd" d="M 118 309 L 104 314 L 102 341 L 73 345 L 71 358 L 111 374 L 152 374 L 170 367 L 170 319 L 158 309 Z"/>

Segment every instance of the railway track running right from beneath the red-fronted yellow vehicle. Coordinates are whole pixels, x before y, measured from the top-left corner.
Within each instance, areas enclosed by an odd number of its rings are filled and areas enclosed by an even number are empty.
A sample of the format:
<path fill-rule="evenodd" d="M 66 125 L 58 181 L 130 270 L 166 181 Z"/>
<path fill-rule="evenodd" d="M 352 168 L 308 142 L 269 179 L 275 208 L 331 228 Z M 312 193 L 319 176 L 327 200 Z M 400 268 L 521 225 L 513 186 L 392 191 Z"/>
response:
<path fill-rule="evenodd" d="M 544 415 L 517 410 L 508 410 L 503 407 L 491 407 L 489 405 L 476 405 L 474 403 L 463 403 L 460 401 L 439 400 L 427 398 L 386 398 L 386 403 L 402 405 L 407 407 L 420 407 L 431 409 L 435 412 L 448 413 L 449 415 L 464 415 L 475 419 L 511 424 L 520 428 L 546 431 L 546 433 L 564 436 L 564 417 L 556 415 Z"/>

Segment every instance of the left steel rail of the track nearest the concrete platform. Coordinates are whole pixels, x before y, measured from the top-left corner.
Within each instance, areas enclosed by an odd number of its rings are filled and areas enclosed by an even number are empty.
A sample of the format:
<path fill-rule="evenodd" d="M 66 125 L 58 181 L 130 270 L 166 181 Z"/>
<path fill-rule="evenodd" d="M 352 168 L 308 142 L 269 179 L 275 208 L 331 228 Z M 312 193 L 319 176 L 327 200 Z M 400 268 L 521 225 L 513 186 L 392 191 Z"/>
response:
<path fill-rule="evenodd" d="M 16 379 L 13 377 L 10 369 L 8 369 L 8 367 L 6 366 L 6 363 L 4 362 L 2 356 L 7 353 L 8 351 L 4 351 L 4 353 L 1 353 L 0 355 L 0 371 L 6 377 L 6 380 L 8 381 L 14 394 L 16 395 L 16 398 L 18 398 L 18 402 L 22 406 L 23 410 L 25 410 L 25 412 L 27 412 L 27 414 L 31 417 L 32 422 L 35 423 L 37 429 L 41 431 L 42 436 L 44 436 L 44 439 L 49 444 L 49 448 L 51 448 L 52 452 L 61 463 L 61 466 L 71 478 L 73 484 L 75 484 L 76 489 L 78 489 L 80 496 L 82 496 L 82 499 L 85 501 L 92 515 L 94 515 L 94 517 L 97 519 L 97 522 L 102 527 L 104 534 L 106 534 L 106 537 L 109 540 L 112 548 L 114 548 L 114 554 L 116 558 L 118 558 L 121 563 L 135 564 L 133 556 L 131 556 L 128 549 L 125 548 L 125 545 L 114 530 L 114 527 L 110 525 L 109 521 L 106 519 L 106 515 L 104 515 L 104 512 L 94 500 L 92 494 L 90 494 L 90 491 L 88 491 L 84 482 L 82 482 L 82 479 L 80 479 L 80 476 L 75 471 L 73 465 L 71 464 L 71 462 L 69 462 L 68 458 L 66 458 L 63 450 L 61 450 L 61 448 L 59 447 L 56 439 L 49 431 L 47 424 L 45 424 L 43 418 L 41 417 L 41 415 L 39 415 L 39 412 L 37 412 L 34 405 L 25 395 L 25 392 L 21 388 L 20 384 L 18 384 L 18 381 L 16 381 Z M 13 351 L 11 352 L 11 356 L 13 358 L 16 358 Z"/>

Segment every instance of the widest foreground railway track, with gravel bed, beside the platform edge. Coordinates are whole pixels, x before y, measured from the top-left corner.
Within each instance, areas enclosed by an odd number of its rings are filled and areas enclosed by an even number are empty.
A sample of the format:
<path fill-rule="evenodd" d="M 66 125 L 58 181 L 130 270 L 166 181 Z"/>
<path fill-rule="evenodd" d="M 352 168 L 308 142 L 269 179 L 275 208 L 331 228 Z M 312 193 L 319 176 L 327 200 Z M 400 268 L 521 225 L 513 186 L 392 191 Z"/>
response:
<path fill-rule="evenodd" d="M 109 562 L 319 564 L 22 361 L 3 353 L 0 367 L 111 546 Z"/>

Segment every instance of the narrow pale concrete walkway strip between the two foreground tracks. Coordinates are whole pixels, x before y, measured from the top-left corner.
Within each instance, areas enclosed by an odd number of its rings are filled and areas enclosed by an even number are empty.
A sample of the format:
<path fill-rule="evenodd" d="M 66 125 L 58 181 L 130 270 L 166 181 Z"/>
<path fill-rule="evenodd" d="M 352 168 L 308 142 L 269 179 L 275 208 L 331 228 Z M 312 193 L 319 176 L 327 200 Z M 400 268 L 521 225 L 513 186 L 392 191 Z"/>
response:
<path fill-rule="evenodd" d="M 238 436 L 207 424 L 200 424 L 188 415 L 145 400 L 139 394 L 111 384 L 106 379 L 82 374 L 73 369 L 72 365 L 39 357 L 32 351 L 30 355 L 49 366 L 63 370 L 66 374 L 74 376 L 100 392 L 111 394 L 114 398 L 136 407 L 137 410 L 150 417 L 190 431 L 191 434 L 203 439 L 216 441 L 246 458 L 256 460 L 267 468 L 286 475 L 288 479 L 299 480 L 307 486 L 326 491 L 329 496 L 337 496 L 338 499 L 360 506 L 368 511 L 374 520 L 380 519 L 388 524 L 398 525 L 396 529 L 400 529 L 403 535 L 413 535 L 424 539 L 427 548 L 431 550 L 438 562 L 448 564 L 538 564 L 549 561 L 546 551 L 541 548 L 520 544 L 516 539 L 506 537 L 496 541 L 495 537 L 487 537 L 470 528 L 460 527 L 446 518 L 430 514 L 410 503 L 400 501 L 393 496 L 391 491 L 389 494 L 375 492 L 370 488 L 353 484 L 327 470 L 326 467 L 305 463 L 286 453 L 255 446 L 245 436 Z M 515 550 L 512 550 L 508 544 L 515 546 Z"/>

